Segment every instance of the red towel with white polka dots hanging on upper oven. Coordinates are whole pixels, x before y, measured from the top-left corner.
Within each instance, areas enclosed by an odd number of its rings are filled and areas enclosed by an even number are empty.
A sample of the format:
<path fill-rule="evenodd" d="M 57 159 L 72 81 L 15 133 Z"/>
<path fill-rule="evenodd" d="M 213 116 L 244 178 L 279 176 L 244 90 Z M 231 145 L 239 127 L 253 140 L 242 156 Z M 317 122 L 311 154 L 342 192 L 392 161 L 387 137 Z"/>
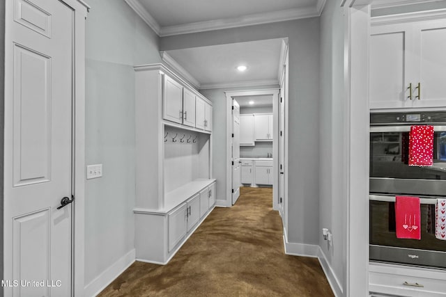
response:
<path fill-rule="evenodd" d="M 432 166 L 433 126 L 412 126 L 409 134 L 409 166 Z"/>

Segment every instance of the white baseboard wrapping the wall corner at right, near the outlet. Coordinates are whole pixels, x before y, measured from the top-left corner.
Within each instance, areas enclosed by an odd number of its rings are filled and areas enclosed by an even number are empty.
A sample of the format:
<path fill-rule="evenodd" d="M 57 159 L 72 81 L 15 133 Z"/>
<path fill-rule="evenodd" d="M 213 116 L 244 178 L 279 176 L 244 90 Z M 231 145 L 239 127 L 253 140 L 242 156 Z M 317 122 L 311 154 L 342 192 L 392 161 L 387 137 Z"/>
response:
<path fill-rule="evenodd" d="M 334 274 L 334 271 L 330 266 L 330 263 L 328 263 L 327 257 L 325 257 L 325 254 L 320 246 L 313 244 L 290 243 L 288 242 L 286 233 L 284 232 L 284 248 L 286 255 L 318 258 L 319 263 L 322 266 L 323 273 L 325 273 L 325 277 L 332 288 L 334 296 L 343 296 L 342 286 Z"/>

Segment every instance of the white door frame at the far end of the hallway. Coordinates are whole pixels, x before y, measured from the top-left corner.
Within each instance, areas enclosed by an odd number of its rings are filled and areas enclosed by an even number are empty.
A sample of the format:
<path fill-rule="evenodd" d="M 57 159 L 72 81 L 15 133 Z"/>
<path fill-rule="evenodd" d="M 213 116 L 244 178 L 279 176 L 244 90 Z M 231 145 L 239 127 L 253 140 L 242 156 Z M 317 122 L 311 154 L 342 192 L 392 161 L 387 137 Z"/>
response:
<path fill-rule="evenodd" d="M 269 88 L 263 90 L 239 90 L 239 91 L 227 91 L 226 95 L 226 205 L 225 207 L 231 207 L 232 205 L 232 164 L 231 164 L 231 138 L 232 138 L 232 99 L 233 97 L 241 96 L 258 96 L 258 95 L 272 95 L 272 129 L 275 133 L 272 136 L 272 209 L 279 210 L 278 201 L 278 189 L 279 185 L 279 171 L 277 158 L 279 153 L 279 138 L 277 131 L 279 129 L 279 114 L 278 114 L 278 102 L 279 102 L 279 88 Z M 286 113 L 286 111 L 285 111 Z M 285 134 L 286 137 L 286 134 Z M 285 160 L 285 164 L 288 160 Z M 286 168 L 287 166 L 285 166 Z"/>

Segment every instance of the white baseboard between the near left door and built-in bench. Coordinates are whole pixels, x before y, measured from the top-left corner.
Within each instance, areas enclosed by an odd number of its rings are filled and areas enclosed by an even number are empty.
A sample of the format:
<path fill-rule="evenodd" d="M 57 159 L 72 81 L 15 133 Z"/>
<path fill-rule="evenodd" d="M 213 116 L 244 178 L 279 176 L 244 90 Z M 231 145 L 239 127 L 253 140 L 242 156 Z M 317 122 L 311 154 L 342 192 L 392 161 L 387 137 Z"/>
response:
<path fill-rule="evenodd" d="M 114 262 L 109 268 L 105 269 L 97 278 L 92 280 L 84 288 L 84 296 L 96 296 L 105 289 L 110 283 L 112 283 L 121 273 L 125 271 L 130 265 L 133 264 L 136 257 L 136 251 L 130 250 L 127 254 L 123 255 L 121 259 Z"/>

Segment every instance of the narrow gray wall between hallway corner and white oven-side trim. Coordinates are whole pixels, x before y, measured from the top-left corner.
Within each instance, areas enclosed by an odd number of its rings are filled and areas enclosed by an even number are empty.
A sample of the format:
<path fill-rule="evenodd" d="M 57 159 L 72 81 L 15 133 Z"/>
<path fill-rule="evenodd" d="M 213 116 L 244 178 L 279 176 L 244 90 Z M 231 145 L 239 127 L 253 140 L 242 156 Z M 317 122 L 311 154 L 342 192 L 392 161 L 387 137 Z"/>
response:
<path fill-rule="evenodd" d="M 345 288 L 344 19 L 336 1 L 327 1 L 321 15 L 321 82 L 318 243 Z M 323 240 L 323 227 L 333 234 L 332 246 Z"/>

